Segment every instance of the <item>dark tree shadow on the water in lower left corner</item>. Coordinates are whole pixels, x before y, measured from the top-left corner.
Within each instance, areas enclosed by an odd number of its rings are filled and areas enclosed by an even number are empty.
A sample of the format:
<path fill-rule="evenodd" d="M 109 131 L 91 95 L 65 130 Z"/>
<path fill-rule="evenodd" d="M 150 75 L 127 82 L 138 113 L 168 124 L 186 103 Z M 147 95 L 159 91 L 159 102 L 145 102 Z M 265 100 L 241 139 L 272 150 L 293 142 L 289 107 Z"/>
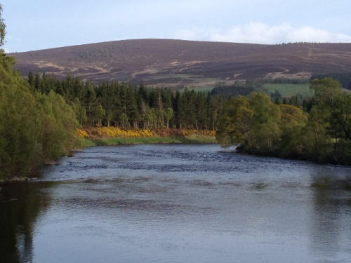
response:
<path fill-rule="evenodd" d="M 50 203 L 49 183 L 24 182 L 0 190 L 0 261 L 32 262 L 34 224 Z M 5 242 L 3 242 L 5 241 Z"/>

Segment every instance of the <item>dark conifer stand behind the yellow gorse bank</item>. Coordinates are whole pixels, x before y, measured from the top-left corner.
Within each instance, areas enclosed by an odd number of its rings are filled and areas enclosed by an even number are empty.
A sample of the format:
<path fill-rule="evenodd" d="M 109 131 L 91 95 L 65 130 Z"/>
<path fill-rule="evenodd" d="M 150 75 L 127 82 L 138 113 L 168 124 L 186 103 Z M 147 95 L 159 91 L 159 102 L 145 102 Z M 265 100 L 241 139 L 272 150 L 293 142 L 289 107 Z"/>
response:
<path fill-rule="evenodd" d="M 216 130 L 223 98 L 185 89 L 146 88 L 143 83 L 94 84 L 67 76 L 32 74 L 27 79 L 33 92 L 62 95 L 83 126 L 121 128 L 181 128 Z"/>

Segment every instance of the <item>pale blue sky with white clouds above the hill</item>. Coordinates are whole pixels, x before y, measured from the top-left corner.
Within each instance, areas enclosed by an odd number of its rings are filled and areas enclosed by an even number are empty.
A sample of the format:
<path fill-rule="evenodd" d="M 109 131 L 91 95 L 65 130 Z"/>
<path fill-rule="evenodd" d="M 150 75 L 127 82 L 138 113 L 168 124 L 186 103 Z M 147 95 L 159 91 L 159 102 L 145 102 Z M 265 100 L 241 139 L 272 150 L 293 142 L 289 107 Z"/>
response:
<path fill-rule="evenodd" d="M 7 53 L 124 39 L 351 43 L 350 0 L 0 0 Z"/>

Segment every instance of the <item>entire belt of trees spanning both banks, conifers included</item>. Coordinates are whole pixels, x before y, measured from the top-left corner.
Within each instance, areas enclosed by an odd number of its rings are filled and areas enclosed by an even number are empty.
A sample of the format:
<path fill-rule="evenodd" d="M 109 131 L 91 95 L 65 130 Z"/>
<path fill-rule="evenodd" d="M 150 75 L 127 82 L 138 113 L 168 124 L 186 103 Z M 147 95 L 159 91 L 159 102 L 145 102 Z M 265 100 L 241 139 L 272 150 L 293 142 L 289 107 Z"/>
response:
<path fill-rule="evenodd" d="M 351 97 L 333 79 L 312 81 L 306 107 L 298 97 L 281 102 L 257 83 L 227 87 L 233 96 L 223 94 L 223 83 L 218 94 L 205 94 L 32 72 L 23 79 L 4 52 L 0 74 L 3 178 L 28 175 L 79 147 L 77 128 L 89 126 L 216 130 L 223 147 L 239 144 L 249 154 L 351 164 Z"/>

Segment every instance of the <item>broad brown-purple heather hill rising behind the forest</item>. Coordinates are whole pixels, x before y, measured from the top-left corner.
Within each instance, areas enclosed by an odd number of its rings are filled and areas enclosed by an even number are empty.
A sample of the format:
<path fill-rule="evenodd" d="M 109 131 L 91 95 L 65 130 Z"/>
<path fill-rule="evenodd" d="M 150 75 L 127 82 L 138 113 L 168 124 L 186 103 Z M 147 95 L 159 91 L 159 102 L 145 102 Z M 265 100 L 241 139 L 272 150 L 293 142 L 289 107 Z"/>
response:
<path fill-rule="evenodd" d="M 216 81 L 351 72 L 351 43 L 259 45 L 138 39 L 13 53 L 29 70 L 93 81 L 206 86 Z"/>

